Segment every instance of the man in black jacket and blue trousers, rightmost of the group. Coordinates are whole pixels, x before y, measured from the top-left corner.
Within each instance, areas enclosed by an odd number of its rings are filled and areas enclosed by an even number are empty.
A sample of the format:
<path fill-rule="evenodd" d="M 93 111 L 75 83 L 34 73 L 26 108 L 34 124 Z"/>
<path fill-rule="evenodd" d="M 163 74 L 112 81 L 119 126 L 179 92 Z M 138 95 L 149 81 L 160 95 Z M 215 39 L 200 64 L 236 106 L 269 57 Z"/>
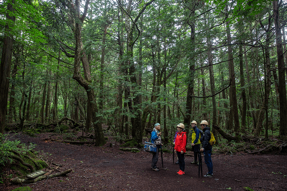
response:
<path fill-rule="evenodd" d="M 208 173 L 204 175 L 204 177 L 212 177 L 213 176 L 213 165 L 211 160 L 211 152 L 212 152 L 212 146 L 210 145 L 209 141 L 211 139 L 211 132 L 210 128 L 208 127 L 208 122 L 205 120 L 202 120 L 200 122 L 200 126 L 202 131 L 204 132 L 203 142 L 202 142 L 202 149 L 200 151 L 203 151 L 204 155 L 204 161 L 208 168 Z"/>

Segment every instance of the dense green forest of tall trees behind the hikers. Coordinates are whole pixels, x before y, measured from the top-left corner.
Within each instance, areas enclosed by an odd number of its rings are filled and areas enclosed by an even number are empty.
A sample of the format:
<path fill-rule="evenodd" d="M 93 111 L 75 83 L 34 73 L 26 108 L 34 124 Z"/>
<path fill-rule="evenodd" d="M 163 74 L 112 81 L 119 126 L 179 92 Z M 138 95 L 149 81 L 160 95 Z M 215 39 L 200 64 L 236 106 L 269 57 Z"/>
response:
<path fill-rule="evenodd" d="M 0 101 L 7 104 L 0 106 L 0 132 L 7 124 L 23 129 L 66 117 L 84 122 L 96 145 L 105 143 L 103 124 L 141 143 L 144 130 L 161 123 L 167 144 L 178 123 L 188 132 L 191 120 L 206 120 L 237 141 L 276 130 L 286 139 L 286 7 L 242 0 L 1 2 Z"/>

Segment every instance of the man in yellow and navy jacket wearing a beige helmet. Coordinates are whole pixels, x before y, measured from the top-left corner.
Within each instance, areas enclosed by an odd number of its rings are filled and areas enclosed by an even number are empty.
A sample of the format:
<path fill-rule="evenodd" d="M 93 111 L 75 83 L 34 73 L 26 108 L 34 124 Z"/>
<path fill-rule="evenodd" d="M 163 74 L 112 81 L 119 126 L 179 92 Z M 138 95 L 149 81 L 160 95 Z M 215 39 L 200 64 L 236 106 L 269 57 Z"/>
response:
<path fill-rule="evenodd" d="M 195 164 L 198 165 L 198 161 L 197 161 L 197 155 L 198 153 L 200 153 L 200 131 L 197 128 L 197 123 L 196 121 L 191 121 L 191 147 L 192 150 L 194 152 L 194 161 L 191 162 L 190 164 Z"/>

